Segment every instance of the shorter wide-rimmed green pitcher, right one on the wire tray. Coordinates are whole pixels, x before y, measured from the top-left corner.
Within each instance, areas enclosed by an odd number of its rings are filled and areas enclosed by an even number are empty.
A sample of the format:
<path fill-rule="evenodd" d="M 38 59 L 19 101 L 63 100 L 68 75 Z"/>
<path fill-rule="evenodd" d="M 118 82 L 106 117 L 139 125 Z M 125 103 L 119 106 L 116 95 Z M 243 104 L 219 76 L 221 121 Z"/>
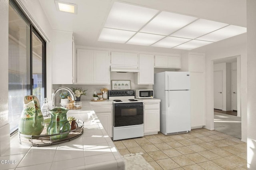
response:
<path fill-rule="evenodd" d="M 70 131 L 70 123 L 67 119 L 67 112 L 68 109 L 63 107 L 56 107 L 50 110 L 51 121 L 47 127 L 47 134 L 58 134 L 66 132 L 64 134 L 53 135 L 52 140 L 68 137 L 68 132 Z"/>

